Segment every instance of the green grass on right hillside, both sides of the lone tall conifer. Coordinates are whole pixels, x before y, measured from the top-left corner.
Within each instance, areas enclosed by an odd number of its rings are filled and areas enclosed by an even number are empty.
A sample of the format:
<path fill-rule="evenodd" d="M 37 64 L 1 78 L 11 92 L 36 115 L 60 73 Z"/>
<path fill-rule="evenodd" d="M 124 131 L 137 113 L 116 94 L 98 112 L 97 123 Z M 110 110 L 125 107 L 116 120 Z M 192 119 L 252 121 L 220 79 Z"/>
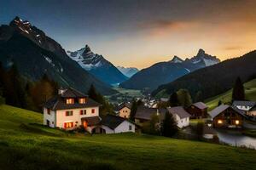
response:
<path fill-rule="evenodd" d="M 256 79 L 250 82 L 244 83 L 246 99 L 256 101 Z M 232 89 L 225 92 L 224 94 L 219 94 L 211 99 L 206 100 L 208 106 L 208 111 L 211 111 L 218 105 L 218 101 L 221 100 L 223 103 L 230 102 L 232 97 Z"/>

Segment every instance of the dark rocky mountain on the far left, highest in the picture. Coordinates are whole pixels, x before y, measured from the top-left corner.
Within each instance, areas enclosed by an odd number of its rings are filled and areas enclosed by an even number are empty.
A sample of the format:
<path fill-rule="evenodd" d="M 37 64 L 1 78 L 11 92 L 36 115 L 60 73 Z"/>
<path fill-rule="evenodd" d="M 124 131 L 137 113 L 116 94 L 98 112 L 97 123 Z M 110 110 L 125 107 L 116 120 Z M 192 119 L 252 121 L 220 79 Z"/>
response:
<path fill-rule="evenodd" d="M 45 73 L 63 87 L 85 92 L 90 84 L 94 84 L 102 94 L 115 93 L 108 84 L 70 59 L 58 42 L 19 17 L 15 17 L 9 26 L 0 26 L 0 61 L 5 67 L 15 63 L 20 74 L 32 81 Z"/>

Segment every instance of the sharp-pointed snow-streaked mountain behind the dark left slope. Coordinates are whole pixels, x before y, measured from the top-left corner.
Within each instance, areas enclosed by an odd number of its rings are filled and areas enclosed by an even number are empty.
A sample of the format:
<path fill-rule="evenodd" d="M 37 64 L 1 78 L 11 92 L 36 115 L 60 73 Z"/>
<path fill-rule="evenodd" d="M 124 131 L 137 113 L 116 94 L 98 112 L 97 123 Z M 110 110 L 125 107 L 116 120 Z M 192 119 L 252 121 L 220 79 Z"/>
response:
<path fill-rule="evenodd" d="M 67 54 L 102 82 L 117 84 L 128 79 L 102 55 L 94 54 L 88 45 L 75 52 L 67 51 Z"/>

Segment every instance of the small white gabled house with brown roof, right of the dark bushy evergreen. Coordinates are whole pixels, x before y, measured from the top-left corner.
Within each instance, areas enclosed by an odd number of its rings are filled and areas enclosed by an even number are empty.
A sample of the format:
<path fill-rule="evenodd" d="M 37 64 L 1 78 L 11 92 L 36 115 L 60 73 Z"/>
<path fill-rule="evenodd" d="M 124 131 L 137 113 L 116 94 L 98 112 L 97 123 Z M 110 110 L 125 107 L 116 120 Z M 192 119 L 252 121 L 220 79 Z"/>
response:
<path fill-rule="evenodd" d="M 190 114 L 182 106 L 167 108 L 170 114 L 175 118 L 177 127 L 183 128 L 189 126 Z"/>

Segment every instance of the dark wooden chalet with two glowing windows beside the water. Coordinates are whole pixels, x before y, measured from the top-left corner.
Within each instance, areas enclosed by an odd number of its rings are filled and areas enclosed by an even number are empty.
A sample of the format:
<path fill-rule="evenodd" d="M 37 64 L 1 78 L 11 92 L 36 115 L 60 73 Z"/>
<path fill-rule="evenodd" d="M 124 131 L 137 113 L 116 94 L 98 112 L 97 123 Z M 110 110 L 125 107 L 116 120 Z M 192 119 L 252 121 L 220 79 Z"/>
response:
<path fill-rule="evenodd" d="M 212 117 L 213 127 L 242 127 L 245 111 L 235 106 L 219 105 L 209 115 Z"/>

